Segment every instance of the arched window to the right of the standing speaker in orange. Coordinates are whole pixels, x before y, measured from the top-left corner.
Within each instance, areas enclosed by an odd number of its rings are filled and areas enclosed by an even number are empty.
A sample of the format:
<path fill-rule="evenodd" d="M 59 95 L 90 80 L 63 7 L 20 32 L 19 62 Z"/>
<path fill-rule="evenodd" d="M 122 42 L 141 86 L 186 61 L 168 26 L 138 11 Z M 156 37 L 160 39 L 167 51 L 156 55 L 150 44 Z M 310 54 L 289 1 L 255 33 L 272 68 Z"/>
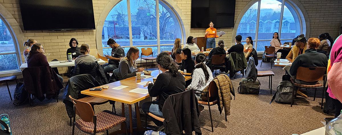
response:
<path fill-rule="evenodd" d="M 282 43 L 292 41 L 297 35 L 305 33 L 298 17 L 300 11 L 293 7 L 288 0 L 258 0 L 242 17 L 236 34 L 241 35 L 243 40 L 251 36 L 257 51 L 264 51 L 264 46 L 269 46 L 274 32 L 279 33 Z M 244 28 L 242 25 L 246 25 L 246 21 L 257 22 L 255 28 L 258 30 L 253 31 L 251 27 L 246 33 L 239 30 Z"/>

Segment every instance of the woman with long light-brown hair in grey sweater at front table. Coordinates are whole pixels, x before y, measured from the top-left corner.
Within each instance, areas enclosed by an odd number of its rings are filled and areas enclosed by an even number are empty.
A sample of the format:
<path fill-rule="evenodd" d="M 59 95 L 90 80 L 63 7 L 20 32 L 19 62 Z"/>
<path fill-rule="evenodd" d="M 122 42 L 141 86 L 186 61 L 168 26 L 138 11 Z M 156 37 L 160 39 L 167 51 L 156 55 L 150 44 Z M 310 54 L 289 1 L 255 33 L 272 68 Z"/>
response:
<path fill-rule="evenodd" d="M 126 57 L 120 60 L 119 68 L 113 72 L 118 80 L 134 77 L 136 72 L 144 70 L 144 68 L 136 68 L 136 59 L 139 58 L 139 54 L 139 49 L 136 47 L 128 50 Z"/>

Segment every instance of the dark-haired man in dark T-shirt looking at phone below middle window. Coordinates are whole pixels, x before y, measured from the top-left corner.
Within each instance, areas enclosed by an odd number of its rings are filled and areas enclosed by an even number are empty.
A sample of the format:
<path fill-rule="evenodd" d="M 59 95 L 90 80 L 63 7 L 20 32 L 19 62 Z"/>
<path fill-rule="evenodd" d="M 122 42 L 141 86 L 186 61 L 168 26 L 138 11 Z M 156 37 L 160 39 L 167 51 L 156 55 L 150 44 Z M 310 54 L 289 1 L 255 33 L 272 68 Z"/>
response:
<path fill-rule="evenodd" d="M 103 71 L 105 73 L 113 71 L 114 69 L 117 69 L 119 67 L 120 59 L 125 56 L 125 51 L 123 48 L 116 43 L 114 39 L 109 38 L 107 41 L 107 45 L 110 46 L 111 49 L 111 56 L 106 55 L 106 58 L 108 58 L 108 63 L 103 64 Z"/>

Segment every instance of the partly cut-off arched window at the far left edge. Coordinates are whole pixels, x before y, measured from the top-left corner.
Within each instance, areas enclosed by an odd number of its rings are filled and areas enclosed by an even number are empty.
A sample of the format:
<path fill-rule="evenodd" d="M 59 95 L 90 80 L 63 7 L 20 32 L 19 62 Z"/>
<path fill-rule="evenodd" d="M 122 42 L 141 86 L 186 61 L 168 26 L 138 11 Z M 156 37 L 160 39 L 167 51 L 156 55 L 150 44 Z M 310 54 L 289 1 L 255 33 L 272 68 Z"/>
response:
<path fill-rule="evenodd" d="M 19 69 L 16 50 L 13 37 L 0 18 L 0 72 Z"/>

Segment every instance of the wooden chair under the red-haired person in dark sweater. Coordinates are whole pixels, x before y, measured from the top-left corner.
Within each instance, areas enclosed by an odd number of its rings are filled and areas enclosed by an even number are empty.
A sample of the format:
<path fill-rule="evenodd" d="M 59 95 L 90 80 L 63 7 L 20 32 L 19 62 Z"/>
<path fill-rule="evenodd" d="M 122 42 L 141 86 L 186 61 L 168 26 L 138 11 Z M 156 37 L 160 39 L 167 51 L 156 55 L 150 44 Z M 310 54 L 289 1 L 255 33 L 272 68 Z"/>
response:
<path fill-rule="evenodd" d="M 316 98 L 316 90 L 317 88 L 323 88 L 323 92 L 322 92 L 322 103 L 321 103 L 321 109 L 323 108 L 323 99 L 324 99 L 324 92 L 325 92 L 325 84 L 326 84 L 326 80 L 325 80 L 325 77 L 326 77 L 326 71 L 327 71 L 327 68 L 326 67 L 299 67 L 297 69 L 297 74 L 294 75 L 294 78 L 291 78 L 291 82 L 292 82 L 292 88 L 293 88 L 293 91 L 292 91 L 292 101 L 291 101 L 291 107 L 293 105 L 293 97 L 294 97 L 294 86 L 298 86 L 298 87 L 302 87 L 302 88 L 305 88 L 306 90 L 308 88 L 315 88 L 315 94 L 314 94 L 314 100 L 315 101 L 315 98 Z M 305 84 L 299 84 L 299 83 L 296 83 L 294 80 L 302 80 L 302 81 L 305 81 L 305 82 L 315 82 L 315 81 L 321 81 L 323 80 L 323 85 L 320 84 L 320 83 L 316 83 L 314 85 L 305 85 Z"/>

